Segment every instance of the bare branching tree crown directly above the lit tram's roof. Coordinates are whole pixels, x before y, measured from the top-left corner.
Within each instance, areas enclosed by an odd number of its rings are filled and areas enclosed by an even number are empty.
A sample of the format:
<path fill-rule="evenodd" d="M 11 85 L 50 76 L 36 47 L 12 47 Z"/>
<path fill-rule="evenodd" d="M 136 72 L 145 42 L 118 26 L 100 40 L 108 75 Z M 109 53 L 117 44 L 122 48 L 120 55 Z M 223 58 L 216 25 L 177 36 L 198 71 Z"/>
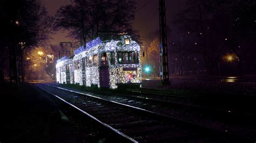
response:
<path fill-rule="evenodd" d="M 127 33 L 139 41 L 138 32 L 132 28 L 135 9 L 132 0 L 75 0 L 58 10 L 55 27 L 70 30 L 70 36 L 80 39 L 81 45 L 86 39 L 108 40 L 118 33 Z"/>

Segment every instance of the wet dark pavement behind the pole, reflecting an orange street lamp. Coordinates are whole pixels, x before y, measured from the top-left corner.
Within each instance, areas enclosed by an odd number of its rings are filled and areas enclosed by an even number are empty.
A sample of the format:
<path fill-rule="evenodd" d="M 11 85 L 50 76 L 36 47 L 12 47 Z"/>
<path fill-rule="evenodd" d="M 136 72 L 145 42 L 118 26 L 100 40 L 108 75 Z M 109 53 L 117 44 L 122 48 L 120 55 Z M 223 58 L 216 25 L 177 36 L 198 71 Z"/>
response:
<path fill-rule="evenodd" d="M 256 95 L 254 77 L 171 77 L 170 85 L 160 85 L 158 78 L 143 78 L 143 88 L 165 90 L 186 90 L 198 95 Z"/>

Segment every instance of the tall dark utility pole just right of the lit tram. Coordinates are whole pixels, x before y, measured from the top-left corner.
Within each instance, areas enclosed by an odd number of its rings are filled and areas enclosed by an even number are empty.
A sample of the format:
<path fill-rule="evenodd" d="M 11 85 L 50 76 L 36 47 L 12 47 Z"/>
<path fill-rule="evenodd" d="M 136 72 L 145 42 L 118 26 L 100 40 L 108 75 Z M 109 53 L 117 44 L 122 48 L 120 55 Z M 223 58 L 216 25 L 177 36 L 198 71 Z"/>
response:
<path fill-rule="evenodd" d="M 159 0 L 159 30 L 160 30 L 160 81 L 169 84 L 169 67 L 167 51 L 165 0 Z"/>

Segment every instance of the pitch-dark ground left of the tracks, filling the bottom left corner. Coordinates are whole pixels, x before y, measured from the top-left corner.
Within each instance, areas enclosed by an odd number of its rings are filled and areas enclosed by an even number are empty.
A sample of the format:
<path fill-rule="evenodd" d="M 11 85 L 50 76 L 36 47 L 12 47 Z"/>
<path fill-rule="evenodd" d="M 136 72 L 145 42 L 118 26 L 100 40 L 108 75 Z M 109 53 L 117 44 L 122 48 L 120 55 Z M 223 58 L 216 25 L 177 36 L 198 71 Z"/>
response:
<path fill-rule="evenodd" d="M 58 106 L 32 85 L 19 90 L 1 87 L 0 142 L 102 142 L 97 126 L 65 116 Z M 101 136 L 101 137 L 100 137 Z"/>

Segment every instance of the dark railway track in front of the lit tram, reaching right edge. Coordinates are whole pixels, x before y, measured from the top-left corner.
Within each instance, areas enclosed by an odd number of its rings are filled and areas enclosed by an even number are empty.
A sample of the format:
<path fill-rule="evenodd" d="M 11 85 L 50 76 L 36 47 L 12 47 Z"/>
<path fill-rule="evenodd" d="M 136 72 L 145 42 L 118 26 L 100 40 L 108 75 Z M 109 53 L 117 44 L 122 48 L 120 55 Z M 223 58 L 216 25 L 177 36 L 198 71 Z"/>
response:
<path fill-rule="evenodd" d="M 129 91 L 131 91 L 131 89 Z M 176 98 L 172 96 L 169 97 L 169 100 L 164 100 L 161 98 L 162 96 L 169 95 L 155 94 L 152 98 L 149 98 L 151 97 L 149 94 L 152 92 L 140 91 L 139 93 L 146 94 L 146 96 L 139 96 L 134 94 L 132 95 L 129 92 L 126 92 L 126 95 L 116 95 L 125 96 L 130 100 L 133 99 L 134 101 L 141 101 L 143 103 L 149 103 L 151 106 L 156 106 L 156 109 L 148 107 L 144 107 L 144 109 L 160 112 L 164 115 L 178 117 L 180 119 L 188 120 L 196 124 L 205 125 L 213 128 L 214 130 L 230 132 L 231 134 L 239 135 L 250 140 L 256 140 L 255 113 L 242 113 L 233 110 L 208 107 L 204 105 L 196 105 L 184 102 L 180 103 L 177 102 Z M 170 98 L 174 98 L 174 101 L 170 101 Z M 179 99 L 183 98 L 184 97 L 180 97 Z M 184 99 L 190 100 L 196 98 Z M 244 112 L 245 111 L 246 110 L 244 110 Z M 184 113 L 184 115 L 181 113 Z"/>

